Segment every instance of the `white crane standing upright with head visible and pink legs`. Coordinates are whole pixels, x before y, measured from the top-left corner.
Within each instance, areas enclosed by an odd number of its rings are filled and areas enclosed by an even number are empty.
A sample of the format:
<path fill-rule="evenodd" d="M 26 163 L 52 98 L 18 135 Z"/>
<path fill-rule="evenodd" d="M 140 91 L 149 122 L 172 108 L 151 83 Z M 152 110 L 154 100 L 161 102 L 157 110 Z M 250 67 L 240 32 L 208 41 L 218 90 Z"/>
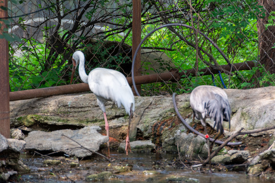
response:
<path fill-rule="evenodd" d="M 89 76 L 85 72 L 85 56 L 81 51 L 75 51 L 72 56 L 73 70 L 71 82 L 73 79 L 74 71 L 79 64 L 79 76 L 81 80 L 89 84 L 91 91 L 97 98 L 97 103 L 103 111 L 105 120 L 106 135 L 109 137 L 109 125 L 106 116 L 105 102 L 113 101 L 119 108 L 124 106 L 126 112 L 129 114 L 129 124 L 126 136 L 126 155 L 128 156 L 128 149 L 131 151 L 129 140 L 129 129 L 131 117 L 134 112 L 134 96 L 132 89 L 129 86 L 126 77 L 115 70 L 96 68 L 93 69 Z M 109 153 L 109 142 L 107 143 Z"/>

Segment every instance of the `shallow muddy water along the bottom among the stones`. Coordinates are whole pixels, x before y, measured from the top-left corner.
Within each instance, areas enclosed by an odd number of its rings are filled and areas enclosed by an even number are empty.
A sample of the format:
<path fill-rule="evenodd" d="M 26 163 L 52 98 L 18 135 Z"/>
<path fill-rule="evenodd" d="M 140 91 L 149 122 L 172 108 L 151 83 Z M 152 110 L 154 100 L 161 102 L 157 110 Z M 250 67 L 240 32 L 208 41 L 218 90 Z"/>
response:
<path fill-rule="evenodd" d="M 172 175 L 185 176 L 198 180 L 198 182 L 275 182 L 266 179 L 246 176 L 244 172 L 225 172 L 219 171 L 215 173 L 201 173 L 201 171 L 193 172 L 183 167 L 175 167 L 177 155 L 171 154 L 125 154 L 112 152 L 111 158 L 113 162 L 108 162 L 101 157 L 93 157 L 90 160 L 54 157 L 60 160 L 59 165 L 45 165 L 45 160 L 51 159 L 42 156 L 22 155 L 21 159 L 25 165 L 28 165 L 31 172 L 28 174 L 17 175 L 13 178 L 13 182 L 86 182 L 87 175 L 95 174 L 103 171 L 114 172 L 113 166 L 132 166 L 132 171 L 124 173 L 115 173 L 117 178 L 112 178 L 97 182 L 167 182 L 167 177 Z M 74 163 L 78 165 L 73 166 Z M 74 164 L 75 165 L 75 164 Z M 154 170 L 157 174 L 145 174 L 146 170 Z"/>

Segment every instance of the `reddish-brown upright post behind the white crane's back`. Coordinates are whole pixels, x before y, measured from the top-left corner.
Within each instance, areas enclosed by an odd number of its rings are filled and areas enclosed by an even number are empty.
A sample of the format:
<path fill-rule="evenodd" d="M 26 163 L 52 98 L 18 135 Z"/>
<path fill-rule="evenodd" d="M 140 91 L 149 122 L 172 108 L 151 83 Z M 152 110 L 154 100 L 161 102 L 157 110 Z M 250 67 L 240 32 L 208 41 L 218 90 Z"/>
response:
<path fill-rule="evenodd" d="M 132 58 L 137 46 L 141 42 L 141 0 L 133 0 L 133 27 L 132 27 Z M 134 63 L 134 76 L 141 75 L 141 50 L 136 55 Z M 137 91 L 141 93 L 141 85 L 136 85 Z M 135 95 L 135 91 L 133 89 Z"/>

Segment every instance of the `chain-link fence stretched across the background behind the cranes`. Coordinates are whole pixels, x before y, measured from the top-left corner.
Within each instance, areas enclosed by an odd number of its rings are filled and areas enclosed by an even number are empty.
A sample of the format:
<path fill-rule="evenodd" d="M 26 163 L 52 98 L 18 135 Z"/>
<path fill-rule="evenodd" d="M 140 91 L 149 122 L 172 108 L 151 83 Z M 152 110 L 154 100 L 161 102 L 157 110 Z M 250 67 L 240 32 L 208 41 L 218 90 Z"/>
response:
<path fill-rule="evenodd" d="M 15 17 L 9 31 L 21 39 L 10 45 L 12 91 L 69 84 L 75 50 L 85 53 L 87 72 L 104 67 L 130 76 L 131 1 L 32 0 L 9 8 L 9 16 Z M 142 95 L 185 93 L 202 84 L 244 89 L 275 85 L 275 14 L 268 11 L 255 0 L 142 1 L 142 38 L 168 23 L 191 27 L 163 27 L 144 41 L 142 75 L 176 69 L 180 78 L 143 84 Z"/>

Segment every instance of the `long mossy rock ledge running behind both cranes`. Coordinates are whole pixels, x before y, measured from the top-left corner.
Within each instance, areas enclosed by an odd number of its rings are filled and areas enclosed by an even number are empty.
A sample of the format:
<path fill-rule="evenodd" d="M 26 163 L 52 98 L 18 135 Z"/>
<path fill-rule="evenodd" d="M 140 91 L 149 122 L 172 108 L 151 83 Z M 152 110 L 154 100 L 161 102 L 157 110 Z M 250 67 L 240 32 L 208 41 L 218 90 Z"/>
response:
<path fill-rule="evenodd" d="M 225 89 L 225 92 L 233 111 L 231 132 L 240 128 L 252 130 L 274 125 L 275 86 L 247 90 Z M 183 118 L 187 123 L 191 123 L 193 115 L 189 94 L 176 96 L 176 101 Z M 11 125 L 17 127 L 104 127 L 103 114 L 94 94 L 14 101 L 10 102 L 10 110 Z M 125 110 L 118 109 L 111 102 L 106 103 L 106 114 L 111 130 L 128 125 Z M 208 121 L 211 125 L 212 121 Z M 162 145 L 163 150 L 176 153 L 177 143 L 182 154 L 187 157 L 194 156 L 196 152 L 205 154 L 207 150 L 203 145 L 203 138 L 188 135 L 188 131 L 175 115 L 171 96 L 135 97 L 135 113 L 131 126 L 138 129 L 143 139 L 151 139 L 153 143 Z M 224 123 L 224 128 L 229 131 L 228 123 Z M 136 132 L 134 129 L 131 129 L 132 131 Z M 133 139 L 135 132 L 132 132 Z M 182 139 L 190 142 L 184 142 Z M 195 142 L 200 145 L 195 145 Z M 193 147 L 197 150 L 191 150 Z"/>

